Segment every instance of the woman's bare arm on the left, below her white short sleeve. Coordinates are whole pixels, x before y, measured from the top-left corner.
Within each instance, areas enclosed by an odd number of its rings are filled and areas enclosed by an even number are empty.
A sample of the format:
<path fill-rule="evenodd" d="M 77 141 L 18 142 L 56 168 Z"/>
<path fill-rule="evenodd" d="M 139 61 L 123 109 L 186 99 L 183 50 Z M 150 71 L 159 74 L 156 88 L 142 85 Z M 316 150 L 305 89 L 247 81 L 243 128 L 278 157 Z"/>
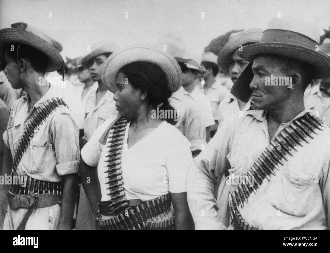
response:
<path fill-rule="evenodd" d="M 80 180 L 94 216 L 97 219 L 99 215 L 97 203 L 101 199 L 101 187 L 97 176 L 97 167 L 87 165 L 82 158 L 80 160 Z"/>

